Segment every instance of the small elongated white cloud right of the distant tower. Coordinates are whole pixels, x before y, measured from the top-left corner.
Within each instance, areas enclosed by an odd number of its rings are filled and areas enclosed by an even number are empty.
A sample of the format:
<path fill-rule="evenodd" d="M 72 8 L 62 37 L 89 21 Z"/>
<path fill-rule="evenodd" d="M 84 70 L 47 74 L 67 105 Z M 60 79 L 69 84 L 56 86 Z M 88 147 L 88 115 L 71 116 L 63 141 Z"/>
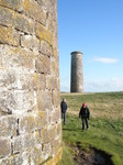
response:
<path fill-rule="evenodd" d="M 109 58 L 109 57 L 94 57 L 93 61 L 99 63 L 105 63 L 105 64 L 112 64 L 119 62 L 116 58 Z"/>

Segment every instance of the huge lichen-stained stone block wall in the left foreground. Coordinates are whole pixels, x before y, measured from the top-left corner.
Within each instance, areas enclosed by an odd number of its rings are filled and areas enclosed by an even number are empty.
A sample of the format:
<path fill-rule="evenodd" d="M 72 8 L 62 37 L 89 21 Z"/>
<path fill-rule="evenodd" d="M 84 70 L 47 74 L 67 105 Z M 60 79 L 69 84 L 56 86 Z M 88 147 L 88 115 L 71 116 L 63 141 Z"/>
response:
<path fill-rule="evenodd" d="M 0 0 L 0 165 L 62 154 L 56 0 Z"/>

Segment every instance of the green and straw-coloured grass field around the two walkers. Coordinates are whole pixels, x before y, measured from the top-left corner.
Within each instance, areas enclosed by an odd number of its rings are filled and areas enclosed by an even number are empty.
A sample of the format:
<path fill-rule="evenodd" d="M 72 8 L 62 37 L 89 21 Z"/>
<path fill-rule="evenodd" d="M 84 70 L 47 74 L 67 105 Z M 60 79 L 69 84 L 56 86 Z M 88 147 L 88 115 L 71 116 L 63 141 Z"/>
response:
<path fill-rule="evenodd" d="M 74 165 L 74 146 L 82 151 L 97 148 L 111 156 L 114 165 L 123 165 L 123 92 L 62 94 L 68 110 L 63 125 L 63 158 L 58 165 Z M 79 110 L 86 102 L 90 109 L 89 130 L 81 132 Z"/>

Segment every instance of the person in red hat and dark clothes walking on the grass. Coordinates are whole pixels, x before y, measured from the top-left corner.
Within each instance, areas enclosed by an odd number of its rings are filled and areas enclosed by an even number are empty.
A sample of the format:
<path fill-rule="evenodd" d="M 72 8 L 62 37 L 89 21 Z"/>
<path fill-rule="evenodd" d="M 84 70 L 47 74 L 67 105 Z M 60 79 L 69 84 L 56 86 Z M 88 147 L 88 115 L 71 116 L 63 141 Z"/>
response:
<path fill-rule="evenodd" d="M 86 123 L 86 127 L 88 130 L 88 128 L 89 128 L 88 120 L 90 118 L 90 111 L 89 111 L 89 108 L 86 106 L 86 103 L 82 103 L 82 107 L 80 108 L 79 118 L 80 117 L 82 120 L 82 131 L 85 130 L 85 123 Z"/>

